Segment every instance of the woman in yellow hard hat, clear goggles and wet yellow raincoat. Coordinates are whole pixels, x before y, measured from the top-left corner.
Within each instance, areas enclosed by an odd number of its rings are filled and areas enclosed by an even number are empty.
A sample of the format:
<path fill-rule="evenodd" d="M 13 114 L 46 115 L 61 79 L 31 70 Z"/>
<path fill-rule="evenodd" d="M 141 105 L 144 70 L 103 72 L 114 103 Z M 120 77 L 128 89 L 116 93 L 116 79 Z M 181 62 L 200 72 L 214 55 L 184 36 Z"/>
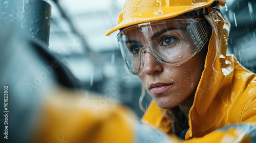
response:
<path fill-rule="evenodd" d="M 226 55 L 224 0 L 126 1 L 122 56 L 153 98 L 142 121 L 186 141 L 256 141 L 256 76 Z"/>

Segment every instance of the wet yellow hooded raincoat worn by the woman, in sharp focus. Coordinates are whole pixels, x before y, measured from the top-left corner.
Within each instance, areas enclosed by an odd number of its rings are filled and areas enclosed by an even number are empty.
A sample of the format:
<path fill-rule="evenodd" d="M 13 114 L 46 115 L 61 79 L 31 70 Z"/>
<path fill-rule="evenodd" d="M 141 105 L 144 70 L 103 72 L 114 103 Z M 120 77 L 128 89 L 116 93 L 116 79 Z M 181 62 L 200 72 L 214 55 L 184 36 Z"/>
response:
<path fill-rule="evenodd" d="M 209 9 L 209 17 L 217 31 L 212 31 L 183 141 L 256 142 L 256 76 L 226 55 L 230 26 L 222 14 Z M 166 133 L 172 128 L 154 101 L 142 121 Z"/>

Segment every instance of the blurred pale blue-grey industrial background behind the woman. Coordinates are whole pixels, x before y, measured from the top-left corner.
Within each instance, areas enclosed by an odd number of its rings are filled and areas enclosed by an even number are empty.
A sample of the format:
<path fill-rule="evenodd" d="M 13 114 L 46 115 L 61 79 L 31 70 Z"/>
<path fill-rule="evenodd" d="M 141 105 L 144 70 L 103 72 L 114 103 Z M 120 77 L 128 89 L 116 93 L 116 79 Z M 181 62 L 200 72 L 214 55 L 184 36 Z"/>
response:
<path fill-rule="evenodd" d="M 20 0 L 28 4 L 35 1 Z M 10 3 L 4 0 L 0 2 L 2 8 L 8 7 Z M 105 37 L 105 33 L 116 25 L 124 0 L 45 2 L 51 5 L 51 15 L 45 16 L 50 21 L 50 37 L 46 39 L 49 40 L 50 53 L 65 63 L 81 88 L 111 96 L 141 117 L 143 111 L 138 102 L 141 83 L 124 65 L 116 41 L 117 32 Z M 246 68 L 255 72 L 256 1 L 227 0 L 226 7 L 221 10 L 231 23 L 228 53 L 236 55 Z M 0 15 L 2 13 L 0 11 Z M 31 33 L 33 31 L 30 29 Z M 142 101 L 144 108 L 150 100 L 146 94 Z"/>

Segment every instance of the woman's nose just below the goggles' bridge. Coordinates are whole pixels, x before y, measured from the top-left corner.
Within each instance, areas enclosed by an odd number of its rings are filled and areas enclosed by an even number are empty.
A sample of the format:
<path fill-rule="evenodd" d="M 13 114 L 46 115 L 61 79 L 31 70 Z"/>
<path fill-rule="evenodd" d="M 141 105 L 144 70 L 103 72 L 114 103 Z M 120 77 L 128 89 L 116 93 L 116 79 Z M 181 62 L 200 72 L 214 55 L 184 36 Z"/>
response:
<path fill-rule="evenodd" d="M 158 62 L 150 53 L 143 53 L 143 72 L 146 75 L 154 75 L 162 71 L 162 64 Z"/>

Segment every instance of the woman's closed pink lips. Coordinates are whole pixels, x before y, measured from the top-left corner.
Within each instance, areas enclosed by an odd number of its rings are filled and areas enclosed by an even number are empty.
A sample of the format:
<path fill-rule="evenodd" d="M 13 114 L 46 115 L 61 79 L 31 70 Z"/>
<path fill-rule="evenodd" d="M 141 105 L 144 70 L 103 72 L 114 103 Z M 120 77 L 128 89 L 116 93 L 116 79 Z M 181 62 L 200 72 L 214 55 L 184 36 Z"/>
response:
<path fill-rule="evenodd" d="M 151 84 L 150 91 L 154 94 L 160 94 L 160 93 L 168 90 L 172 86 L 173 86 L 173 84 L 166 84 L 166 83 Z"/>

